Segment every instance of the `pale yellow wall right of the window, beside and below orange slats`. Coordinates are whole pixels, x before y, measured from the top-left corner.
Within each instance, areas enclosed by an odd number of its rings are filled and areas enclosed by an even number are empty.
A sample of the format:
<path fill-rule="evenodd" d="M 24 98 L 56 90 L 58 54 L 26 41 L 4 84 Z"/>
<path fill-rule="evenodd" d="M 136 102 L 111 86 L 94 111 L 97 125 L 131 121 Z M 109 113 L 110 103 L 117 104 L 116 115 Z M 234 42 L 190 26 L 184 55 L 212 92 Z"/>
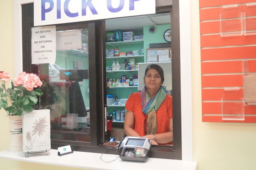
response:
<path fill-rule="evenodd" d="M 191 0 L 193 160 L 197 170 L 255 170 L 255 123 L 202 122 L 199 2 Z"/>

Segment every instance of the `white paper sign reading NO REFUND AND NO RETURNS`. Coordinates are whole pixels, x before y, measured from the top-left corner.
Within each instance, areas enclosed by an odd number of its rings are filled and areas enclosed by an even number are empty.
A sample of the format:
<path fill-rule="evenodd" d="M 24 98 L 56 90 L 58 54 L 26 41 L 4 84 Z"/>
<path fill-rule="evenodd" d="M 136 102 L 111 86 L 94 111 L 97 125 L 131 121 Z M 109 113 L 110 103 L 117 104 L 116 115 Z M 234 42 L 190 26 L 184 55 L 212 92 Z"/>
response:
<path fill-rule="evenodd" d="M 32 64 L 55 63 L 56 26 L 31 28 Z"/>

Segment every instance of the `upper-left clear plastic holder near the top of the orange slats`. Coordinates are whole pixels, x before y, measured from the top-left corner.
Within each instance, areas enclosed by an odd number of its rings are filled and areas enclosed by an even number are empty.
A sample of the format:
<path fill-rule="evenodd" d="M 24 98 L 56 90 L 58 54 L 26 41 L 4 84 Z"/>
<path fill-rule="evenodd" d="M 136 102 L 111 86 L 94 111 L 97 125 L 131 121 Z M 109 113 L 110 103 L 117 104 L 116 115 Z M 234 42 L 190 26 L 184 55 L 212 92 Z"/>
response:
<path fill-rule="evenodd" d="M 224 5 L 220 11 L 220 36 L 243 35 L 243 10 L 241 6 Z"/>

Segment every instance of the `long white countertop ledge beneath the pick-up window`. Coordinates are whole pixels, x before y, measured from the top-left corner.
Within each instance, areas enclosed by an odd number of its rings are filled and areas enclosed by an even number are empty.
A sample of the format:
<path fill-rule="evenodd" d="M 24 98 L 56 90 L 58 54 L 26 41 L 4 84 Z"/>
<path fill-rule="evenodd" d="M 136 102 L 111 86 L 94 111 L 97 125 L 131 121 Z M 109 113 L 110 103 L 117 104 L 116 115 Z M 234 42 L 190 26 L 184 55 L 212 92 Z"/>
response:
<path fill-rule="evenodd" d="M 132 170 L 196 170 L 196 162 L 182 160 L 148 158 L 146 162 L 129 162 L 118 158 L 113 162 L 106 163 L 100 159 L 101 154 L 92 152 L 74 151 L 73 154 L 63 156 L 58 156 L 58 150 L 55 149 L 51 149 L 49 152 L 48 156 L 29 154 L 29 157 L 26 158 L 23 152 L 0 151 L 0 158 L 90 170 L 131 170 L 131 168 Z M 117 157 L 118 155 L 104 154 L 102 159 L 111 161 Z"/>

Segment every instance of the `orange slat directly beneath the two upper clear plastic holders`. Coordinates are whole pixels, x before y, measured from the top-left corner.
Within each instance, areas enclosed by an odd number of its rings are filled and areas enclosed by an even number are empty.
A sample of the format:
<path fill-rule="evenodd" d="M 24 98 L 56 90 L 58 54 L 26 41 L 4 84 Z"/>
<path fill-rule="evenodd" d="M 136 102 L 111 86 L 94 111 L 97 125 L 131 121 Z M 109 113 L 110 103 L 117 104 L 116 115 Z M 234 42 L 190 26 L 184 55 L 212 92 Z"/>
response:
<path fill-rule="evenodd" d="M 201 48 L 256 44 L 256 35 L 220 37 L 220 35 L 217 34 L 217 35 L 200 36 L 200 38 L 201 38 Z"/>

